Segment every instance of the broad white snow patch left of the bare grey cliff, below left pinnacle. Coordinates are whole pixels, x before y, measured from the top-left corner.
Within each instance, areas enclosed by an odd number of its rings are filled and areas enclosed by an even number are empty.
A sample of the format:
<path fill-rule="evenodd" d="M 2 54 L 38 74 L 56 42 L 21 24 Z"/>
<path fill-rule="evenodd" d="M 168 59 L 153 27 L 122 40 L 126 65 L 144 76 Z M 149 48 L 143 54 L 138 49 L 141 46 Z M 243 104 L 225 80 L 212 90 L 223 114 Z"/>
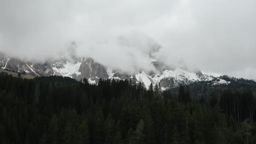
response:
<path fill-rule="evenodd" d="M 80 75 L 81 73 L 78 71 L 82 62 L 77 63 L 69 63 L 68 61 L 63 64 L 63 68 L 53 67 L 53 70 L 56 73 L 59 73 L 62 76 L 72 77 L 73 74 Z"/>

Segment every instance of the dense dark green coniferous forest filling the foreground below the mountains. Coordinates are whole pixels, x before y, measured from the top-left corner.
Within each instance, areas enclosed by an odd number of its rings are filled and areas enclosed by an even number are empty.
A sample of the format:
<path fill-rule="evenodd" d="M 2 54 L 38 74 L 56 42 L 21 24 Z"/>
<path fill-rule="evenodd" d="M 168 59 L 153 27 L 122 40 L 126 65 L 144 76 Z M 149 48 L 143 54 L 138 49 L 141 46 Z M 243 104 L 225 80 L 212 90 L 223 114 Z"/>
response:
<path fill-rule="evenodd" d="M 0 74 L 0 143 L 256 143 L 255 117 L 251 88 Z"/>

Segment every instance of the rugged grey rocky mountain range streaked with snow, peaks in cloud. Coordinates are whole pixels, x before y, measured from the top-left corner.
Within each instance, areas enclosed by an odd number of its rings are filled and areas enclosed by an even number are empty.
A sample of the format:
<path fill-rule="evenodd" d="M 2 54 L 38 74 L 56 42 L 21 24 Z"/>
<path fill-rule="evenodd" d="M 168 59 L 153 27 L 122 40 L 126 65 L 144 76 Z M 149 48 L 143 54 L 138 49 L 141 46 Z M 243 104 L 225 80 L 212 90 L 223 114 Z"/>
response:
<path fill-rule="evenodd" d="M 136 45 L 125 37 L 120 37 L 119 40 L 123 45 Z M 59 75 L 72 77 L 75 80 L 85 78 L 92 84 L 96 84 L 100 79 L 141 82 L 146 88 L 149 88 L 151 83 L 153 86 L 160 83 L 163 90 L 200 81 L 209 81 L 211 85 L 229 85 L 230 83 L 222 77 L 202 74 L 201 71 L 189 71 L 183 62 L 177 67 L 159 61 L 155 58 L 155 54 L 161 49 L 161 46 L 157 43 L 147 44 L 144 47 L 147 47 L 147 49 L 144 48 L 143 51 L 149 56 L 150 63 L 155 68 L 155 71 L 150 73 L 143 70 L 134 74 L 120 73 L 119 70 L 108 68 L 96 62 L 93 58 L 77 57 L 75 43 L 72 43 L 68 48 L 68 56 L 59 59 L 49 58 L 44 62 L 26 61 L 8 56 L 6 53 L 0 53 L 0 68 L 36 77 Z"/>

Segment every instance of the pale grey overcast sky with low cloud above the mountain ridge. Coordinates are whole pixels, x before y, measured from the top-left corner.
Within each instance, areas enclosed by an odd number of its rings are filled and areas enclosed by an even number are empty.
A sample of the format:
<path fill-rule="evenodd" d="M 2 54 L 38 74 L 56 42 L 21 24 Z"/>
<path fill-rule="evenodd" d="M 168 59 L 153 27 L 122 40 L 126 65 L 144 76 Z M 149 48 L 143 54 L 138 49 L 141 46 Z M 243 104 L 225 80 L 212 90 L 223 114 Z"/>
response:
<path fill-rule="evenodd" d="M 148 37 L 166 63 L 256 79 L 255 0 L 0 0 L 0 50 L 58 57 L 71 41 L 79 56 L 124 71 L 152 69 Z M 120 46 L 120 35 L 137 45 Z"/>

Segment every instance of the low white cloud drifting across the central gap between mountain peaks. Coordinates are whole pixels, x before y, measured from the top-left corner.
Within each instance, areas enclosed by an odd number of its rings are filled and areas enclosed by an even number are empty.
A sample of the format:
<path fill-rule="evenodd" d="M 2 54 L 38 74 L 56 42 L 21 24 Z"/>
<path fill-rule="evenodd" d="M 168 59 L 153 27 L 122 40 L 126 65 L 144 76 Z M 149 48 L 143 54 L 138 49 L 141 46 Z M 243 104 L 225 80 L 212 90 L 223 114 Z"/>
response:
<path fill-rule="evenodd" d="M 142 33 L 127 33 L 125 36 L 90 42 L 78 45 L 78 51 L 82 52 L 79 56 L 92 57 L 103 65 L 125 73 L 155 71 L 148 53 L 148 47 L 154 41 Z"/>

